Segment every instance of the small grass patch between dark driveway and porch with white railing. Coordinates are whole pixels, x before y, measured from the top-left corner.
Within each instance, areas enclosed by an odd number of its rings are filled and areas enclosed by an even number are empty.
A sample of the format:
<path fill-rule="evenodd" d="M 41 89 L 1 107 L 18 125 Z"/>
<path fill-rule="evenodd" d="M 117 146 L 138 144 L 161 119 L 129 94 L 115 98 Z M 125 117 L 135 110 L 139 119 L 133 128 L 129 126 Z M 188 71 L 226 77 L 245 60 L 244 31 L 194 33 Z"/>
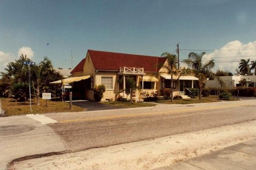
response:
<path fill-rule="evenodd" d="M 134 107 L 156 106 L 156 104 L 154 104 L 154 103 L 143 103 L 143 102 L 136 102 L 136 103 L 133 102 L 132 105 L 130 104 L 130 102 L 122 102 L 122 101 L 104 101 L 102 103 L 106 104 L 106 105 L 115 106 L 115 107 L 118 107 L 118 108 L 134 108 Z"/>

